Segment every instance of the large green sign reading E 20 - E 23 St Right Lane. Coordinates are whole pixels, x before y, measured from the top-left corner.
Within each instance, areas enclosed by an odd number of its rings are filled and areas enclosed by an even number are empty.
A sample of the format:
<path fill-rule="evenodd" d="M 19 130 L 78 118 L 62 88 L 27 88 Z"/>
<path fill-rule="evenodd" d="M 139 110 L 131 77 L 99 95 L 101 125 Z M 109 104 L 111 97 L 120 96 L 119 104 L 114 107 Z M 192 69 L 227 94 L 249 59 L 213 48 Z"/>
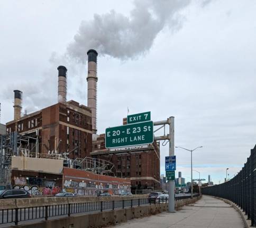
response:
<path fill-rule="evenodd" d="M 153 121 L 106 128 L 106 148 L 151 144 L 153 141 Z"/>

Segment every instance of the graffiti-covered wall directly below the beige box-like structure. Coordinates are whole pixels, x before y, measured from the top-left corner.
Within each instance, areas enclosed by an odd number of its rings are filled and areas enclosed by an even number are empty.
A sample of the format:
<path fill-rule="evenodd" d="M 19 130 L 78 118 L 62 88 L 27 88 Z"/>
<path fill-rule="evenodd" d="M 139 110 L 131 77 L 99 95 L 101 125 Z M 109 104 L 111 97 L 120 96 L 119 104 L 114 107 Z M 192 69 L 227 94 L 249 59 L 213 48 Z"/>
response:
<path fill-rule="evenodd" d="M 61 189 L 55 181 L 45 181 L 42 178 L 14 177 L 13 189 L 24 189 L 31 195 L 55 195 Z"/>

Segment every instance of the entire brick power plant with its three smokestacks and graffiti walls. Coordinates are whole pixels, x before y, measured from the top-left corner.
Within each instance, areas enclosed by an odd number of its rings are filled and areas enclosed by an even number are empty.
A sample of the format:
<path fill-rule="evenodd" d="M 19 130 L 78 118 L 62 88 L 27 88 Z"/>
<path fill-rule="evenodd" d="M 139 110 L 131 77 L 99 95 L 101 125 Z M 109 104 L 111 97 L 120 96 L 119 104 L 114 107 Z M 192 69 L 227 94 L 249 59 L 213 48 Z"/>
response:
<path fill-rule="evenodd" d="M 87 55 L 87 106 L 66 100 L 63 66 L 58 67 L 55 105 L 21 116 L 23 94 L 14 90 L 14 120 L 6 123 L 6 135 L 0 136 L 2 187 L 24 188 L 36 195 L 144 193 L 160 188 L 156 141 L 117 151 L 106 149 L 105 135 L 96 134 L 97 52 L 89 50 Z"/>

